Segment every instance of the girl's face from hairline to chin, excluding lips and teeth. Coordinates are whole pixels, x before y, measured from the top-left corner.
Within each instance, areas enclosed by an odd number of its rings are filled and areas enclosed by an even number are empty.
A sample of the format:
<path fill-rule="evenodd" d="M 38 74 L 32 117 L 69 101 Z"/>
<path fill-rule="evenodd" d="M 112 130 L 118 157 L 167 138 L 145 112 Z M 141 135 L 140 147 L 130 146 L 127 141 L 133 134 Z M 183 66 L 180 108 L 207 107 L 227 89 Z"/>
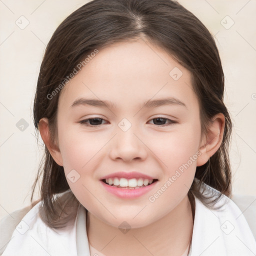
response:
<path fill-rule="evenodd" d="M 72 106 L 78 98 L 109 105 Z M 98 119 L 81 122 L 88 118 Z M 99 49 L 62 89 L 57 126 L 67 182 L 102 221 L 142 227 L 187 196 L 200 155 L 199 105 L 189 71 L 161 48 L 137 40 Z M 157 181 L 139 196 L 120 197 L 101 181 L 119 171 Z"/>

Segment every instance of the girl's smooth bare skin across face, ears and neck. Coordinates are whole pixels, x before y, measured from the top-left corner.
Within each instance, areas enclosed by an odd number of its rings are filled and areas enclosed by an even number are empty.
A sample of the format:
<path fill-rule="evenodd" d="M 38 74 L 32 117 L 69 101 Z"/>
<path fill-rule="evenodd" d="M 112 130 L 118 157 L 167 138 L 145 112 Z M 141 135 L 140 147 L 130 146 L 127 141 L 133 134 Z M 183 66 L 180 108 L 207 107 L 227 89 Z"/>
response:
<path fill-rule="evenodd" d="M 178 80 L 169 75 L 174 67 L 182 71 Z M 118 42 L 99 49 L 62 89 L 55 143 L 49 140 L 48 120 L 40 120 L 41 137 L 56 163 L 64 167 L 65 175 L 72 169 L 80 175 L 76 182 L 68 178 L 67 182 L 88 210 L 88 239 L 101 253 L 157 256 L 185 251 L 193 229 L 187 192 L 196 166 L 216 152 L 224 130 L 224 115 L 218 113 L 201 137 L 199 104 L 191 88 L 190 72 L 162 48 L 141 38 Z M 71 107 L 78 97 L 108 100 L 115 107 Z M 185 106 L 141 107 L 149 99 L 166 97 Z M 80 123 L 96 117 L 104 120 Z M 131 124 L 126 131 L 118 126 L 123 118 Z M 197 159 L 158 198 L 149 201 L 196 152 L 200 152 Z M 123 199 L 100 184 L 104 175 L 132 170 L 157 178 L 154 189 L 135 199 Z M 131 227 L 127 233 L 118 228 L 123 221 Z"/>

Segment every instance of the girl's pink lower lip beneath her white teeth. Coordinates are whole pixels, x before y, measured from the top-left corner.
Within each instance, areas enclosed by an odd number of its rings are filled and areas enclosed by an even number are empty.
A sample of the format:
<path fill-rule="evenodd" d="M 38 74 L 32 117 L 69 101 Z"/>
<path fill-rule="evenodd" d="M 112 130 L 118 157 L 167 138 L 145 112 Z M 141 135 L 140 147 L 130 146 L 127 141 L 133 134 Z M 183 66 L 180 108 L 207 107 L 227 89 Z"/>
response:
<path fill-rule="evenodd" d="M 143 187 L 140 187 L 140 188 L 134 188 L 134 189 L 119 188 L 119 187 L 107 185 L 102 180 L 100 180 L 100 183 L 103 185 L 103 187 L 108 192 L 110 192 L 110 193 L 112 193 L 112 194 L 114 194 L 114 195 L 116 195 L 120 198 L 136 198 L 136 197 L 139 197 L 139 196 L 147 193 L 148 191 L 150 191 L 155 186 L 155 183 L 157 183 L 157 181 L 154 181 L 150 185 L 143 186 Z"/>

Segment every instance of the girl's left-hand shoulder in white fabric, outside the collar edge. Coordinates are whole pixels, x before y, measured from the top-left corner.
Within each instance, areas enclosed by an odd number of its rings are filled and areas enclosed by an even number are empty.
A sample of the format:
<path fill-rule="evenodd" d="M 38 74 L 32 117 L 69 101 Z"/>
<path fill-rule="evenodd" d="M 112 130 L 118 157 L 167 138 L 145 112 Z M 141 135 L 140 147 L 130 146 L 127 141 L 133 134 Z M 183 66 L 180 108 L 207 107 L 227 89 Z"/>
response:
<path fill-rule="evenodd" d="M 42 201 L 11 212 L 0 221 L 0 255 L 75 255 L 75 222 L 51 228 L 41 218 Z"/>

